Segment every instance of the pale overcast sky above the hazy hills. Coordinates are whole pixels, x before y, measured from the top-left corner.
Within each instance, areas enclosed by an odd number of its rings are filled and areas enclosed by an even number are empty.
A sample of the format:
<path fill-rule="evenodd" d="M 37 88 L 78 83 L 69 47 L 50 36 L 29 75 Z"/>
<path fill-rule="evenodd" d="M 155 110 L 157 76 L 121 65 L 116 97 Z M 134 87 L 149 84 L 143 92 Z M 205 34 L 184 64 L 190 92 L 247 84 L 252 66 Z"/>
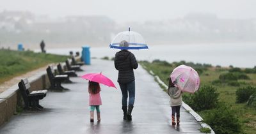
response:
<path fill-rule="evenodd" d="M 116 22 L 163 20 L 188 13 L 256 18 L 256 0 L 0 0 L 0 11 L 22 10 L 50 17 L 106 15 Z"/>

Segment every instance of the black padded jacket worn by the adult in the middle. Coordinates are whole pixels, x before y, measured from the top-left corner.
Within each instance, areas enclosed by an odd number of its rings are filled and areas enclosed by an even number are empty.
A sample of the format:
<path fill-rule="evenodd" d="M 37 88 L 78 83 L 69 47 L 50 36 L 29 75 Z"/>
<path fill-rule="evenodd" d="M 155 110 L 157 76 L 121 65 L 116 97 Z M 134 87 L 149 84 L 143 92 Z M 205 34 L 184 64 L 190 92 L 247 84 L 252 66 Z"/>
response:
<path fill-rule="evenodd" d="M 128 50 L 116 52 L 115 68 L 118 70 L 118 82 L 126 84 L 135 80 L 133 69 L 138 68 L 138 63 L 134 54 Z"/>

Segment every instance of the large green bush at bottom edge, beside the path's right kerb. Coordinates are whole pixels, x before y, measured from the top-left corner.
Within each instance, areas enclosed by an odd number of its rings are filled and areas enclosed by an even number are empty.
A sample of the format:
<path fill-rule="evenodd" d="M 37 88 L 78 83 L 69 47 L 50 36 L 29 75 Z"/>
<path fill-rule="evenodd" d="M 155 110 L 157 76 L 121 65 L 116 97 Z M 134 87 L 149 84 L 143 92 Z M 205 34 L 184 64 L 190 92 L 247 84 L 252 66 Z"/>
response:
<path fill-rule="evenodd" d="M 230 107 L 222 104 L 207 112 L 204 116 L 204 122 L 209 124 L 212 130 L 218 134 L 241 133 L 241 124 L 235 114 Z"/>

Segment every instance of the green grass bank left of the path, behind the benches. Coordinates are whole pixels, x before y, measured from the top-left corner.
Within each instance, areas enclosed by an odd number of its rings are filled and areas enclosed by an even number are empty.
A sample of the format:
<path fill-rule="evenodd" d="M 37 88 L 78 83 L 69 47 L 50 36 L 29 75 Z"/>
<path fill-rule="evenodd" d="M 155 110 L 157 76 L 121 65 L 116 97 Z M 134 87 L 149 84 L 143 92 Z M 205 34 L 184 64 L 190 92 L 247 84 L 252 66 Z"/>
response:
<path fill-rule="evenodd" d="M 68 56 L 0 49 L 0 84 L 12 77 L 49 63 L 63 62 Z M 46 70 L 46 68 L 45 68 Z"/>

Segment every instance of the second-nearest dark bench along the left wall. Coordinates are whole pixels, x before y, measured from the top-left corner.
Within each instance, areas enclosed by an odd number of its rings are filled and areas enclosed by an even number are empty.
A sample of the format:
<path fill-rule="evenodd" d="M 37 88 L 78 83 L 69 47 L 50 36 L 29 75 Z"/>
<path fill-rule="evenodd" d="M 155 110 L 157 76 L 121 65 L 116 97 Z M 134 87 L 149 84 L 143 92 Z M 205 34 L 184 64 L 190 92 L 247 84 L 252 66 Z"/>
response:
<path fill-rule="evenodd" d="M 47 75 L 49 77 L 51 86 L 49 89 L 58 89 L 58 90 L 63 90 L 65 89 L 64 87 L 61 86 L 61 82 L 65 82 L 67 80 L 68 75 L 53 75 L 51 66 L 48 66 L 46 69 Z"/>

